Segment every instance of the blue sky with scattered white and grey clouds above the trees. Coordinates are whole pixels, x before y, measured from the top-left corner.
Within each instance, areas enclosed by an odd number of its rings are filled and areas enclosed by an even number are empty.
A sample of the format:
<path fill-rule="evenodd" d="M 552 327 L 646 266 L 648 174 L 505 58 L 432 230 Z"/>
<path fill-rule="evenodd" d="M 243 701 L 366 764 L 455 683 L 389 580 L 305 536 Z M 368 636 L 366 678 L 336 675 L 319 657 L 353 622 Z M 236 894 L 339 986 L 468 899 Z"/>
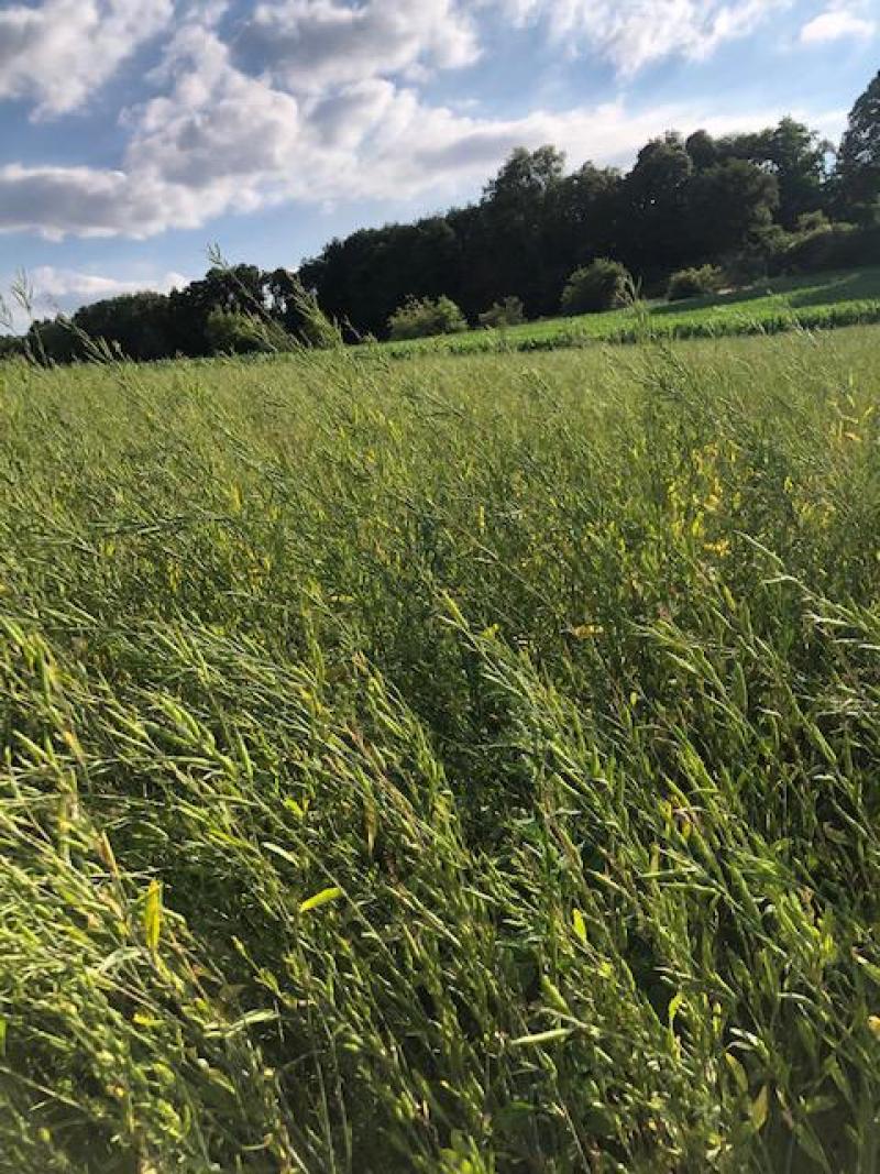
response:
<path fill-rule="evenodd" d="M 70 309 L 790 113 L 838 139 L 880 0 L 0 0 L 0 285 Z"/>

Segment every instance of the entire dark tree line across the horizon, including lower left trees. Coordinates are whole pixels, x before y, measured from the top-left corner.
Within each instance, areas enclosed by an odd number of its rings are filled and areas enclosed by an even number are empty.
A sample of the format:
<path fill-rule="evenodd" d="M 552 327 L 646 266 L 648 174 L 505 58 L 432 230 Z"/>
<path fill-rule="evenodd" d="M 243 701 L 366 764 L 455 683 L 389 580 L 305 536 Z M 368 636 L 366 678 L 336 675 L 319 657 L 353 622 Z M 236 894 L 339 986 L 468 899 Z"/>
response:
<path fill-rule="evenodd" d="M 310 299 L 347 340 L 386 337 L 408 299 L 452 299 L 475 325 L 515 298 L 535 318 L 559 313 L 571 272 L 598 257 L 620 262 L 649 295 L 686 266 L 720 265 L 745 283 L 880 263 L 880 73 L 837 149 L 785 117 L 724 137 L 670 130 L 627 173 L 564 164 L 553 146 L 517 148 L 480 200 L 445 215 L 334 238 L 298 271 L 212 265 L 168 295 L 109 298 L 70 323 L 34 323 L 27 343 L 57 360 L 77 357 L 84 337 L 136 359 L 271 349 L 319 340 Z"/>

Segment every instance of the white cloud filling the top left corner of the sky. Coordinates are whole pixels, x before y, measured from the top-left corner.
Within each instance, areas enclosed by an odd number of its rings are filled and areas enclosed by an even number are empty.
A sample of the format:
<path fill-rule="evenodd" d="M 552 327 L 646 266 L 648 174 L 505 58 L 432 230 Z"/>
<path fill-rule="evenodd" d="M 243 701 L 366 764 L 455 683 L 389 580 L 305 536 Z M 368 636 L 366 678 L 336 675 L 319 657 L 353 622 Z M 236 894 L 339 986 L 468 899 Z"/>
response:
<path fill-rule="evenodd" d="M 42 0 L 0 11 L 0 99 L 36 117 L 82 106 L 140 45 L 164 28 L 172 0 Z"/>

